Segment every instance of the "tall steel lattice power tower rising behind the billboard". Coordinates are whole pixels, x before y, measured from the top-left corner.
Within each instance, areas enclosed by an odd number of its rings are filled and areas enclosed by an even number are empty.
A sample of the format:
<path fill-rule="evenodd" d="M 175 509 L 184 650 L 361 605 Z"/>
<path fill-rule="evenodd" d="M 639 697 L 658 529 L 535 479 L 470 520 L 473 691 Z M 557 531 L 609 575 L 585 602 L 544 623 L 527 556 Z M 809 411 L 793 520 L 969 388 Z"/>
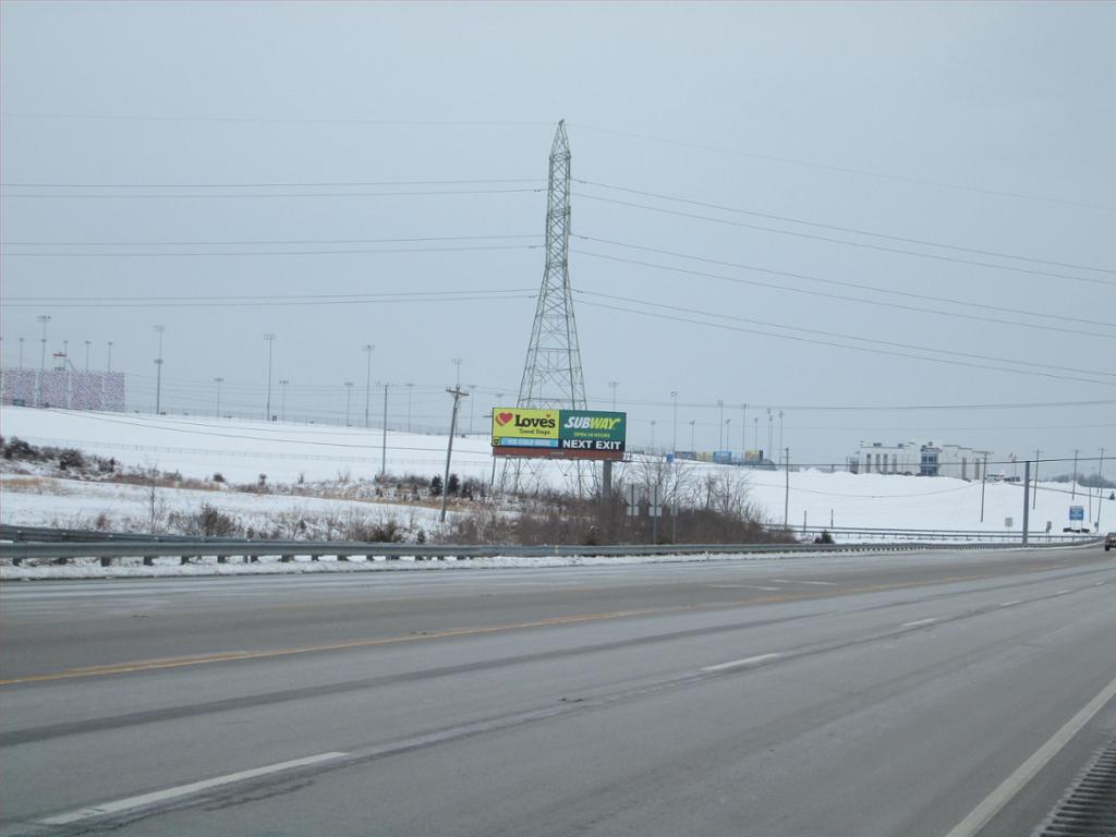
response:
<path fill-rule="evenodd" d="M 519 406 L 585 410 L 581 350 L 569 288 L 569 141 L 558 123 L 550 147 L 547 190 L 547 262 L 527 347 Z"/>

